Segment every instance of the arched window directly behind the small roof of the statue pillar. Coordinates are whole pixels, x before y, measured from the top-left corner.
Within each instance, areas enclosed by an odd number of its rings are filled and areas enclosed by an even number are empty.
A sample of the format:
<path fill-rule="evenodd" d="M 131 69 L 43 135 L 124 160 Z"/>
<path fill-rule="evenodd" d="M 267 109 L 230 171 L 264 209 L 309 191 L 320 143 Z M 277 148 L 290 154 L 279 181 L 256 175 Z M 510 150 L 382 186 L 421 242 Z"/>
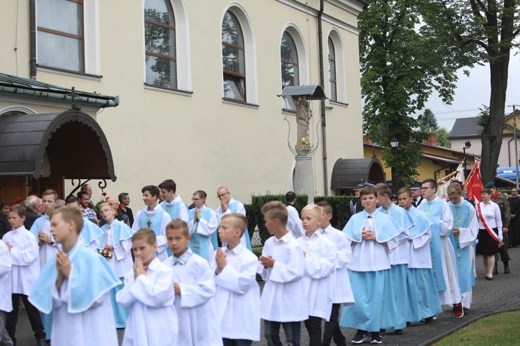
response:
<path fill-rule="evenodd" d="M 281 89 L 286 86 L 300 85 L 300 65 L 298 52 L 293 37 L 287 31 L 281 36 Z M 296 109 L 292 98 L 287 98 L 287 108 Z"/>

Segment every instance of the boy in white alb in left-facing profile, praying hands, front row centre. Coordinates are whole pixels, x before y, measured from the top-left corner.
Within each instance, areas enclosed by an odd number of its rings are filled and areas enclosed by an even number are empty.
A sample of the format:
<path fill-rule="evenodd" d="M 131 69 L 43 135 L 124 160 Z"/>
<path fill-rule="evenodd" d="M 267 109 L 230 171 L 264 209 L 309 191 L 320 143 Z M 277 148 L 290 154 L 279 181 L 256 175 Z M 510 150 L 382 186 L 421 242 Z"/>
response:
<path fill-rule="evenodd" d="M 240 239 L 248 225 L 241 214 L 224 215 L 218 230 L 220 242 L 211 256 L 215 274 L 215 302 L 224 346 L 250 346 L 260 340 L 260 287 L 258 258 Z"/>

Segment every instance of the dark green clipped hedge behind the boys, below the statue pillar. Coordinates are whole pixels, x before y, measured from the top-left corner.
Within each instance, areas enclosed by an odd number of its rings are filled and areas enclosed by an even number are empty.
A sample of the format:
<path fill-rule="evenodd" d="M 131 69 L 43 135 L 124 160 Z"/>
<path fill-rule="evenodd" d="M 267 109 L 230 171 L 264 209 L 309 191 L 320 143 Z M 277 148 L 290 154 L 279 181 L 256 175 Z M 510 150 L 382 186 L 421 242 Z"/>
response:
<path fill-rule="evenodd" d="M 347 224 L 347 210 L 350 208 L 350 201 L 354 198 L 354 196 L 318 196 L 314 197 L 314 203 L 318 203 L 320 201 L 328 201 L 331 203 L 333 210 L 331 224 L 333 227 L 343 229 L 345 224 Z M 244 205 L 246 215 L 248 215 L 248 229 L 250 230 L 249 235 L 252 237 L 254 228 L 258 226 L 260 239 L 263 244 L 270 237 L 270 234 L 264 224 L 261 209 L 264 204 L 270 201 L 280 201 L 281 203 L 285 203 L 285 194 L 264 194 L 259 196 L 252 196 L 251 201 L 251 204 Z M 304 208 L 306 205 L 307 195 L 297 194 L 295 203 L 296 210 L 298 210 L 300 213 L 302 208 Z"/>

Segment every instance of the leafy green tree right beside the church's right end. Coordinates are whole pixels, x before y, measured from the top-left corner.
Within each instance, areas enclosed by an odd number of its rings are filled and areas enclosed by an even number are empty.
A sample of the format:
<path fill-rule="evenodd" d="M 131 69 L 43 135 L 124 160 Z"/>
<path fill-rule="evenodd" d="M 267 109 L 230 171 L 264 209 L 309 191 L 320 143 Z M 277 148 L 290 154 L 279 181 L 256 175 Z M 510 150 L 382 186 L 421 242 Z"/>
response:
<path fill-rule="evenodd" d="M 413 114 L 434 90 L 450 104 L 460 67 L 446 64 L 451 52 L 423 33 L 420 1 L 372 0 L 358 18 L 364 131 L 387 148 L 383 160 L 388 167 L 394 166 L 390 140 L 399 140 L 399 185 L 418 175 L 421 148 L 415 143 L 426 138 L 415 130 L 419 122 Z"/>

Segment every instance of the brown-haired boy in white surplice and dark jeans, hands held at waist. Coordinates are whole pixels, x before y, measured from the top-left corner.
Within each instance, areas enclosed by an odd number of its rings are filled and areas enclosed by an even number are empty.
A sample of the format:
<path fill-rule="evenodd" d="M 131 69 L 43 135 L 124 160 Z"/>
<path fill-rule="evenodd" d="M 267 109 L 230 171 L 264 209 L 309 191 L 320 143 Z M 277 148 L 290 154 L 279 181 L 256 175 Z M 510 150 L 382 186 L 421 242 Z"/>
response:
<path fill-rule="evenodd" d="M 288 212 L 278 201 L 261 210 L 271 235 L 263 244 L 258 273 L 266 282 L 260 298 L 268 346 L 281 345 L 279 329 L 284 327 L 286 343 L 300 345 L 301 321 L 309 319 L 303 281 L 305 257 L 302 247 L 286 229 Z"/>

